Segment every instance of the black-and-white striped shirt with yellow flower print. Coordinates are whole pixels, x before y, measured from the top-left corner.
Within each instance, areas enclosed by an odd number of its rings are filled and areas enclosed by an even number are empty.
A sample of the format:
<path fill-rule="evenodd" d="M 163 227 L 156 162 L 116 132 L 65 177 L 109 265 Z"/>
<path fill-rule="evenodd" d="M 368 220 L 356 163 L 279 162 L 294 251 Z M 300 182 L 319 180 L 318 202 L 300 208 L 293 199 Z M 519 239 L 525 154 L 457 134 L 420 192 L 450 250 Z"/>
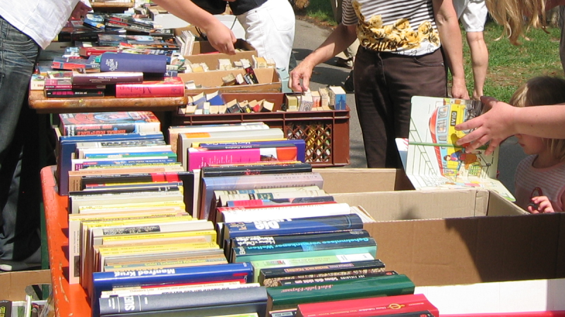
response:
<path fill-rule="evenodd" d="M 440 46 L 432 0 L 344 0 L 342 22 L 372 51 L 420 56 Z"/>

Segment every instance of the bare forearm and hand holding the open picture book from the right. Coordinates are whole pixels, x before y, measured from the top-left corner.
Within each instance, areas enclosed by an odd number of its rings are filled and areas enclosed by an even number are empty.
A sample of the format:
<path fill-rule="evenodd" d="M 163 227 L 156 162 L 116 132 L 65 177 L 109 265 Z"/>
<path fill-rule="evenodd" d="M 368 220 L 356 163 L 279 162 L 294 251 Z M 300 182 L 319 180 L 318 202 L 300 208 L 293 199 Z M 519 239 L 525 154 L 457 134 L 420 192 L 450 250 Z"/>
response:
<path fill-rule="evenodd" d="M 489 111 L 456 125 L 456 130 L 475 129 L 457 141 L 458 145 L 470 142 L 468 151 L 490 141 L 484 153 L 491 154 L 500 142 L 517 133 L 565 139 L 565 106 L 516 108 L 492 97 L 481 97 L 481 101 L 490 108 Z"/>

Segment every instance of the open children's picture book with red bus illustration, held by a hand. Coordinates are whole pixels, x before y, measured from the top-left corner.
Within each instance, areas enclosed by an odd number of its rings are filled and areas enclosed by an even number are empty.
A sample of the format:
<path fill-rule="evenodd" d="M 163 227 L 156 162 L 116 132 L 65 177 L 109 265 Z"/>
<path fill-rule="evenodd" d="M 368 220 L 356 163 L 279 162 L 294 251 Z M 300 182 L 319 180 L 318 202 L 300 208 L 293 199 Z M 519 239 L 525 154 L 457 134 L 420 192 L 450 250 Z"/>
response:
<path fill-rule="evenodd" d="M 464 99 L 412 97 L 406 174 L 416 189 L 483 188 L 514 197 L 499 180 L 498 149 L 467 153 L 456 141 L 470 131 L 455 126 L 479 116 L 484 104 Z M 465 145 L 465 144 L 464 144 Z"/>

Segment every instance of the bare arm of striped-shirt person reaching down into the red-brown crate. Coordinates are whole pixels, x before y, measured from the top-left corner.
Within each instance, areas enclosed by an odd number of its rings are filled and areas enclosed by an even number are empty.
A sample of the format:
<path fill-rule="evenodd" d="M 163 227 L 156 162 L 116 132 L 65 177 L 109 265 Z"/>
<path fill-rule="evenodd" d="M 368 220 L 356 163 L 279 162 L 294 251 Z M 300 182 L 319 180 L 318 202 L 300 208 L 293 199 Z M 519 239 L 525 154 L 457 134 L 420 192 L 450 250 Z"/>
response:
<path fill-rule="evenodd" d="M 303 92 L 309 89 L 310 77 L 314 67 L 346 49 L 356 38 L 355 25 L 345 26 L 340 23 L 315 51 L 311 52 L 304 58 L 304 61 L 292 70 L 290 73 L 290 88 L 295 92 Z"/>

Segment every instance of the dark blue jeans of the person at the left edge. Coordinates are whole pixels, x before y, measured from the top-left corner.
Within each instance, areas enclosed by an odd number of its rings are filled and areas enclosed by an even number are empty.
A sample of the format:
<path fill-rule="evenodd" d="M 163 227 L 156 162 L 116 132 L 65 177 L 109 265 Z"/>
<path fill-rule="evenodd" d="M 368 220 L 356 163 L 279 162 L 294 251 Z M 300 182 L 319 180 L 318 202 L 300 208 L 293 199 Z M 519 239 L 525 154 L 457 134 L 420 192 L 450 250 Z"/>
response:
<path fill-rule="evenodd" d="M 0 259 L 20 261 L 41 245 L 37 114 L 28 87 L 40 47 L 0 17 Z"/>

